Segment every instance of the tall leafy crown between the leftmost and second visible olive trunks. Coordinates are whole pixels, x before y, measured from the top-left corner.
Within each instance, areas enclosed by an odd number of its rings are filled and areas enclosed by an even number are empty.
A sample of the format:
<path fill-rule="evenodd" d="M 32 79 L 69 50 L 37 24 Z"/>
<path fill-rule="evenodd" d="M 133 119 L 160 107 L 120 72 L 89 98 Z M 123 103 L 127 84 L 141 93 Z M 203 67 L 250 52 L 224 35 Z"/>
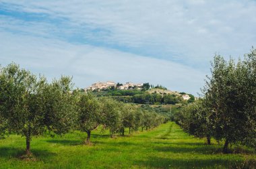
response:
<path fill-rule="evenodd" d="M 72 87 L 71 78 L 62 76 L 59 80 L 53 80 L 46 89 L 44 123 L 49 131 L 63 134 L 75 127 L 78 93 Z"/>

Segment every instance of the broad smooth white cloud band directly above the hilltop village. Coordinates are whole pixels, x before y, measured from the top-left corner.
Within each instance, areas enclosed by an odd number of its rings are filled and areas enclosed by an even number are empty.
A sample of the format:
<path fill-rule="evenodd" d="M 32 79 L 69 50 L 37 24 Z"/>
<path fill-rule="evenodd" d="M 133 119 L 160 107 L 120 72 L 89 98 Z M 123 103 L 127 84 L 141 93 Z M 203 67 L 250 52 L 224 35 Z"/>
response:
<path fill-rule="evenodd" d="M 146 58 L 135 54 L 73 45 L 58 40 L 15 36 L 0 32 L 1 63 L 14 61 L 32 72 L 49 78 L 61 74 L 73 76 L 77 87 L 93 82 L 150 82 L 162 84 L 174 91 L 196 94 L 203 85 L 205 73 L 174 62 Z"/>

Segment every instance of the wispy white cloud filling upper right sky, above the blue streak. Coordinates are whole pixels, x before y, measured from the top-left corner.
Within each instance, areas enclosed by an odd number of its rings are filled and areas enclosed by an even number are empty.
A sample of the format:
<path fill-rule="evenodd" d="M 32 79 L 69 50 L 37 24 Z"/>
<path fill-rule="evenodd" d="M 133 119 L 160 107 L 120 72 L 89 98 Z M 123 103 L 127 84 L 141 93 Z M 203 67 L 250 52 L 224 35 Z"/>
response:
<path fill-rule="evenodd" d="M 65 25 L 59 29 L 80 33 L 88 43 L 93 40 L 112 48 L 135 48 L 146 56 L 186 64 L 209 62 L 215 52 L 241 56 L 256 41 L 256 3 L 250 0 L 3 2 L 15 4 L 7 7 L 17 11 L 66 18 L 65 23 L 72 29 L 65 30 Z M 91 32 L 95 29 L 108 33 L 96 36 Z"/>

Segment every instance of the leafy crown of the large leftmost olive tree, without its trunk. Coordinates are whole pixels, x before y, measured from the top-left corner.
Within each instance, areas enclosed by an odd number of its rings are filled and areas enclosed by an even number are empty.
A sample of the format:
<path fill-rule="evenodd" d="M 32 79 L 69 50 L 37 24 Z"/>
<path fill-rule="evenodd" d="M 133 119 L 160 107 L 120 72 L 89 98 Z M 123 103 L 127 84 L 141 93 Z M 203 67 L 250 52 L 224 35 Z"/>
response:
<path fill-rule="evenodd" d="M 30 137 L 44 132 L 45 78 L 37 79 L 16 64 L 1 70 L 1 116 L 8 130 Z"/>

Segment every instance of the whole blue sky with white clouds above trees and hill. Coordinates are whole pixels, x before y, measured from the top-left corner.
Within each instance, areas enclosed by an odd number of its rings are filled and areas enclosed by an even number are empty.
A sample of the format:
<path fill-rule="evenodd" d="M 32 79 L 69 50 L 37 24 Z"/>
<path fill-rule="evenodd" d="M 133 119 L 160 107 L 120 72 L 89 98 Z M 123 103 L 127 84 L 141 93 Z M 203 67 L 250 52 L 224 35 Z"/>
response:
<path fill-rule="evenodd" d="M 150 82 L 197 96 L 215 54 L 256 46 L 255 0 L 0 0 L 0 64 L 49 80 Z"/>

